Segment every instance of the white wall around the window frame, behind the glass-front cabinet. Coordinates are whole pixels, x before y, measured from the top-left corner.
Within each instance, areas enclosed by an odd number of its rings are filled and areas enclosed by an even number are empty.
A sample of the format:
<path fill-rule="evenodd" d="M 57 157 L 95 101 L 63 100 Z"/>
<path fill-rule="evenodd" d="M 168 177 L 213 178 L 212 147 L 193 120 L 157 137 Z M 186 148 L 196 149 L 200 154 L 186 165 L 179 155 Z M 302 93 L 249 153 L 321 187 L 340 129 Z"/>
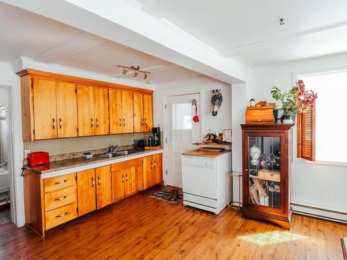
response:
<path fill-rule="evenodd" d="M 298 74 L 339 69 L 347 69 L 347 55 L 252 69 L 246 85 L 246 102 L 248 103 L 251 97 L 256 101 L 273 101 L 270 94 L 271 87 L 277 85 L 286 91 L 293 85 Z M 232 100 L 234 99 L 236 98 Z M 234 106 L 232 108 L 233 113 L 236 112 Z M 332 125 L 332 130 L 334 127 L 335 125 Z M 233 153 L 234 157 L 239 157 L 241 150 L 235 149 L 234 146 Z M 235 165 L 237 164 L 234 163 Z M 294 160 L 291 169 L 292 203 L 347 213 L 347 166 L 301 163 Z M 337 216 L 329 214 L 329 217 Z M 347 220 L 346 215 L 344 219 Z"/>

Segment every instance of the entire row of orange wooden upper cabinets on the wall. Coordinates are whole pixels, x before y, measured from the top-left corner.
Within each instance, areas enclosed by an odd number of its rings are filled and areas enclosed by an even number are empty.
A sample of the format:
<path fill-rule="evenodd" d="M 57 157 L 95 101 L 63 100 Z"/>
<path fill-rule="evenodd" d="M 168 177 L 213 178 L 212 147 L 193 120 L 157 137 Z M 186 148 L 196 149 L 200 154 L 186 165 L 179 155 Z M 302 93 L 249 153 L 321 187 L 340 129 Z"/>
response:
<path fill-rule="evenodd" d="M 21 78 L 24 141 L 153 128 L 153 91 L 25 69 Z"/>

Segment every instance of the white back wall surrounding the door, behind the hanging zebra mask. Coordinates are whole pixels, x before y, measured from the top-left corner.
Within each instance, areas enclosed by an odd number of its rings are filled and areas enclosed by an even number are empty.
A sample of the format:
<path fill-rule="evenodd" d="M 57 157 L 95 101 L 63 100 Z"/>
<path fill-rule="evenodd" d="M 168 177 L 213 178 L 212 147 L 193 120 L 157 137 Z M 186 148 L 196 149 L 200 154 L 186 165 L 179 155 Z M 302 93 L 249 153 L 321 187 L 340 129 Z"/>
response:
<path fill-rule="evenodd" d="M 219 108 L 217 116 L 212 116 L 212 89 L 221 89 L 223 95 L 223 103 L 221 104 L 221 108 Z M 153 97 L 154 124 L 160 124 L 160 126 L 163 127 L 163 95 L 182 94 L 190 90 L 203 90 L 203 101 L 201 101 L 203 103 L 203 110 L 201 111 L 201 116 L 203 116 L 202 135 L 206 135 L 211 128 L 215 129 L 217 132 L 231 128 L 231 87 L 227 83 L 214 80 L 207 76 L 185 78 L 183 80 L 174 80 L 168 83 L 155 85 Z"/>

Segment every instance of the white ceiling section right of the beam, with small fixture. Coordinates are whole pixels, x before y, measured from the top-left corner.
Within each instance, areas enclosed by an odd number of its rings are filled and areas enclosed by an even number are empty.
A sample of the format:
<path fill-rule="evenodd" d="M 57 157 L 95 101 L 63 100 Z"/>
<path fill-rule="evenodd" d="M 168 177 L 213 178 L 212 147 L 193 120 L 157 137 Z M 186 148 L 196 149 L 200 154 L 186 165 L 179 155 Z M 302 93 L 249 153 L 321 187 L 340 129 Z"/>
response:
<path fill-rule="evenodd" d="M 347 51 L 346 0 L 126 1 L 249 67 Z"/>

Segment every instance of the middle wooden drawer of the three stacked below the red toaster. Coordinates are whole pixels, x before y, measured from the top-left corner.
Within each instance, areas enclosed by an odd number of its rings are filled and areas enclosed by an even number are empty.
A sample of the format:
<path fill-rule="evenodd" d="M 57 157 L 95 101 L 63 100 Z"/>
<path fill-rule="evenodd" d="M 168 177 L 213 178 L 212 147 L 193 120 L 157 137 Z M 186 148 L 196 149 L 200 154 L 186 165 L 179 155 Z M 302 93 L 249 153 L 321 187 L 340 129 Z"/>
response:
<path fill-rule="evenodd" d="M 44 211 L 76 202 L 76 187 L 71 186 L 59 191 L 44 193 Z"/>

